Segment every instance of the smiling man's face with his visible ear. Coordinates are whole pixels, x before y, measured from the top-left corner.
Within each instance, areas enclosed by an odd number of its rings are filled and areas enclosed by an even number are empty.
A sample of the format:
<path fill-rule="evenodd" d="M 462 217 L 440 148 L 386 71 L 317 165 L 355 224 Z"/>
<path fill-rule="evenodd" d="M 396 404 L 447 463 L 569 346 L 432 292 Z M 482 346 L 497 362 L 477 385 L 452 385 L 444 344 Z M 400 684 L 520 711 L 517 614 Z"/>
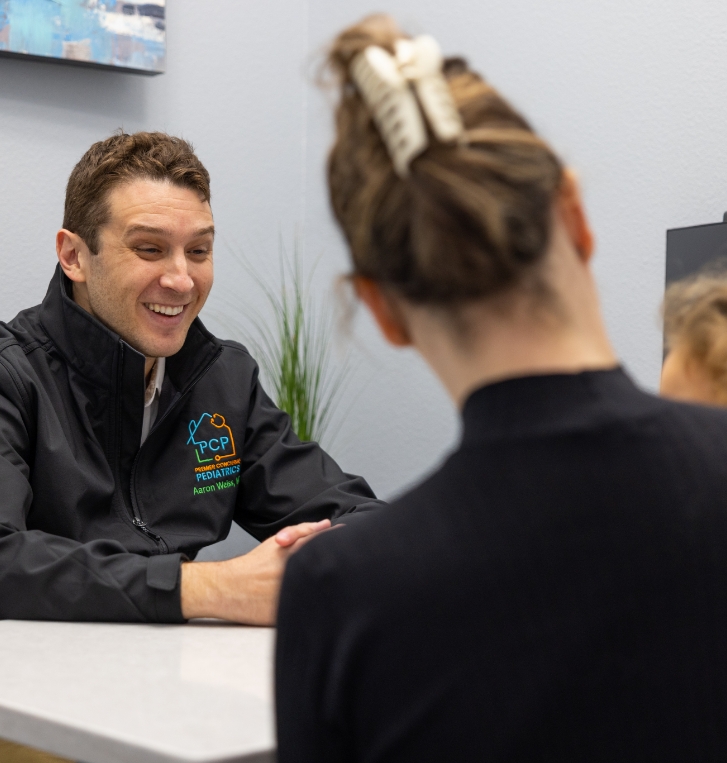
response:
<path fill-rule="evenodd" d="M 174 355 L 212 287 L 210 205 L 147 179 L 116 186 L 108 205 L 98 254 L 81 242 L 74 299 L 148 358 Z"/>

